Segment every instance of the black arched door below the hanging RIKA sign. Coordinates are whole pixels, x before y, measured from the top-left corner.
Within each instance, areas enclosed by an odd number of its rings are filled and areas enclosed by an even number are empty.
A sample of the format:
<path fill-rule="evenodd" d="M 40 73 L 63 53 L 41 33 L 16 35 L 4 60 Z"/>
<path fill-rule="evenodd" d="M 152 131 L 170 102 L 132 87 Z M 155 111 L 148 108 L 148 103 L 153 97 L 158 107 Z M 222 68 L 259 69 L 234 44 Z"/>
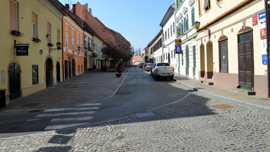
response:
<path fill-rule="evenodd" d="M 18 64 L 13 63 L 8 69 L 9 78 L 9 99 L 14 100 L 20 98 L 20 67 Z"/>

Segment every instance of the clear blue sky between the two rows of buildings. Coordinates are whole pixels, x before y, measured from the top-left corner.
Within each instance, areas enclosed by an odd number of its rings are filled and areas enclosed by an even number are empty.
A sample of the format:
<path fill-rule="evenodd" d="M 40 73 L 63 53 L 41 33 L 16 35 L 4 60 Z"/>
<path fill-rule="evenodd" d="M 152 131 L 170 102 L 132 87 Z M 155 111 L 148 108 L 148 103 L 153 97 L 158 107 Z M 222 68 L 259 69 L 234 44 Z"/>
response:
<path fill-rule="evenodd" d="M 88 3 L 92 15 L 143 50 L 161 30 L 159 26 L 174 0 L 59 0 L 62 4 Z M 72 5 L 70 6 L 72 7 Z"/>

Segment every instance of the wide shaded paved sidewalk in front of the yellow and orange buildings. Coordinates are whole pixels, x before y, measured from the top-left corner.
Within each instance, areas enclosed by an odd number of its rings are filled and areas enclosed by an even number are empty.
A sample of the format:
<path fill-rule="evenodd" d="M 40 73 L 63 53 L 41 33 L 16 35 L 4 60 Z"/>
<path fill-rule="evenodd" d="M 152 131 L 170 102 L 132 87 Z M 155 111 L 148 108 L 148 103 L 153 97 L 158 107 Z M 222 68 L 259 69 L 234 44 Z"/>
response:
<path fill-rule="evenodd" d="M 6 105 L 1 112 L 42 110 L 105 100 L 117 93 L 128 70 L 126 68 L 119 78 L 115 76 L 118 72 L 90 71 L 80 74 L 20 98 Z"/>

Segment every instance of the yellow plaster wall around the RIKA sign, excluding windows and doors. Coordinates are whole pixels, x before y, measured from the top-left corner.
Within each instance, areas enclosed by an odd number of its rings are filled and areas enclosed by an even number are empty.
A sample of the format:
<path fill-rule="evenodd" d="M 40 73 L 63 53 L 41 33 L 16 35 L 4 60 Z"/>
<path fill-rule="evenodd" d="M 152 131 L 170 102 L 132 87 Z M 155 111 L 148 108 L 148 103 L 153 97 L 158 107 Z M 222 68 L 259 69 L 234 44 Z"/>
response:
<path fill-rule="evenodd" d="M 64 16 L 54 5 L 49 1 L 37 0 L 17 0 L 18 2 L 18 30 L 23 33 L 23 37 L 10 34 L 9 25 L 9 5 L 10 1 L 1 2 L 1 56 L 0 56 L 0 71 L 5 71 L 5 82 L 0 82 L 0 88 L 8 89 L 6 91 L 6 100 L 9 102 L 9 78 L 8 69 L 12 63 L 17 63 L 20 66 L 20 86 L 22 97 L 40 91 L 46 88 L 45 81 L 45 64 L 46 59 L 51 58 L 53 62 L 53 83 L 56 84 L 56 63 L 59 62 L 62 69 L 62 51 L 58 50 L 49 54 L 49 46 L 47 46 L 47 23 L 51 24 L 51 43 L 56 48 L 57 29 L 60 30 L 61 37 L 61 18 Z M 46 7 L 47 6 L 47 7 Z M 41 42 L 32 40 L 32 12 L 37 15 L 37 37 Z M 53 12 L 56 12 L 53 13 Z M 5 15 L 4 15 L 5 14 Z M 14 40 L 20 41 L 23 44 L 29 44 L 29 56 L 14 55 Z M 19 42 L 17 42 L 19 43 Z M 43 54 L 40 54 L 40 50 Z M 38 65 L 39 83 L 32 84 L 32 65 Z M 62 70 L 60 70 L 62 81 Z"/>

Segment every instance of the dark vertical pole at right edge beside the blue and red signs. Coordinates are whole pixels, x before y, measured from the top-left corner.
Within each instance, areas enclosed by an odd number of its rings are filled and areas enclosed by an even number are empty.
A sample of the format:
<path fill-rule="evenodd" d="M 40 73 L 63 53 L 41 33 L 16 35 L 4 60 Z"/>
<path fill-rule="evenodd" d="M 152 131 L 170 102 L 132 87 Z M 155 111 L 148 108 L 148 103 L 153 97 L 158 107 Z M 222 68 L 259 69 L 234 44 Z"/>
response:
<path fill-rule="evenodd" d="M 266 54 L 267 54 L 267 98 L 270 96 L 270 78 L 269 78 L 269 28 L 270 28 L 270 16 L 269 16 L 269 3 L 268 0 L 264 0 L 265 19 L 266 19 Z"/>

